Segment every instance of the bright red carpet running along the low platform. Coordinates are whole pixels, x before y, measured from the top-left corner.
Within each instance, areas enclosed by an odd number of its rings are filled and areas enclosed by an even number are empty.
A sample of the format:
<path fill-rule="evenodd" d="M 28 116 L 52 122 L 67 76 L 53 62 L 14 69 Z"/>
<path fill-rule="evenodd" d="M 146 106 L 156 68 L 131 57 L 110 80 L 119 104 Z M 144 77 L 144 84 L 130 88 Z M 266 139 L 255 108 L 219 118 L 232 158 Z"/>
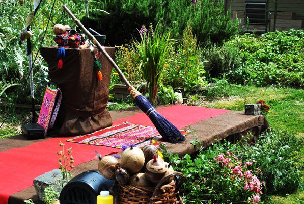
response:
<path fill-rule="evenodd" d="M 208 118 L 227 113 L 229 110 L 210 109 L 194 106 L 175 105 L 158 110 L 179 129 Z M 123 121 L 153 126 L 144 113 L 114 121 L 119 124 Z M 71 138 L 71 137 L 69 137 Z M 35 177 L 58 168 L 59 141 L 69 138 L 50 138 L 23 148 L 10 149 L 0 152 L 0 203 L 6 204 L 11 194 L 14 194 L 33 185 Z M 94 159 L 97 150 L 101 155 L 108 155 L 120 151 L 116 148 L 82 145 L 64 142 L 66 148 L 73 147 L 74 166 Z"/>

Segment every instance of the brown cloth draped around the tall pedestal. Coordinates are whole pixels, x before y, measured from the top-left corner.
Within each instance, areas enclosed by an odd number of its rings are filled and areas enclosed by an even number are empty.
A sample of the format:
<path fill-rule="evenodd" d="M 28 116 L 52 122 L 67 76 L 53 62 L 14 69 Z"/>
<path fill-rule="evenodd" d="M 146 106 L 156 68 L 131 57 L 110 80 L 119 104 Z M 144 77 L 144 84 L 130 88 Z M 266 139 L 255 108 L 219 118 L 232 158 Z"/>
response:
<path fill-rule="evenodd" d="M 115 48 L 105 47 L 111 57 Z M 98 81 L 94 70 L 91 50 L 66 48 L 64 65 L 57 68 L 58 48 L 42 47 L 40 53 L 48 64 L 48 74 L 52 82 L 62 91 L 61 107 L 51 136 L 73 136 L 92 133 L 112 125 L 111 116 L 106 109 L 108 88 L 112 66 L 101 54 L 103 80 Z"/>

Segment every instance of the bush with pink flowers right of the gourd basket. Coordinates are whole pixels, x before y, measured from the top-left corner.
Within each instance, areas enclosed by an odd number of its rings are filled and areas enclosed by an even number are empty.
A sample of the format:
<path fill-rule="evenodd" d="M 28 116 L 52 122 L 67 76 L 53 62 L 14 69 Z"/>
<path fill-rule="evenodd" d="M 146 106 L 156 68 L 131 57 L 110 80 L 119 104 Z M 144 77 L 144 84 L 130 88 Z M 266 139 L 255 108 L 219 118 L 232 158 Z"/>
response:
<path fill-rule="evenodd" d="M 242 160 L 232 151 L 223 153 L 224 149 L 213 144 L 208 150 L 201 149 L 194 159 L 169 155 L 175 170 L 185 175 L 180 190 L 185 203 L 260 202 L 264 182 L 258 179 L 262 172 L 255 167 L 256 162 Z"/>

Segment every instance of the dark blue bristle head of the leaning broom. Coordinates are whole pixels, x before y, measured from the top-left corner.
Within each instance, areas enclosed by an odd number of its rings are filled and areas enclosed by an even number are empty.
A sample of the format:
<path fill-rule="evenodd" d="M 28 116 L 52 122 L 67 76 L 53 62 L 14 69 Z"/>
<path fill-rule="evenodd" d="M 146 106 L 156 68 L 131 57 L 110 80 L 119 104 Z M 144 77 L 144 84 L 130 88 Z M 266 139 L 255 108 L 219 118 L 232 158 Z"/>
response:
<path fill-rule="evenodd" d="M 179 143 L 185 140 L 185 136 L 183 136 L 177 127 L 160 115 L 144 96 L 137 96 L 135 101 L 137 106 L 147 114 L 166 142 Z"/>

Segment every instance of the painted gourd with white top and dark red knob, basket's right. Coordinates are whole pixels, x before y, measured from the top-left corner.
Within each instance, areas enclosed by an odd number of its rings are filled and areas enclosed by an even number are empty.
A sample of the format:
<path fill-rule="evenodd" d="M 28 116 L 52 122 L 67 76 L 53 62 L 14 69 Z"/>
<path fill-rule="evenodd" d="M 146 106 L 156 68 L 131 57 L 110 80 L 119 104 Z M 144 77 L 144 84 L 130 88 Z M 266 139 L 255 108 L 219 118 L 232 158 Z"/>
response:
<path fill-rule="evenodd" d="M 145 168 L 145 173 L 150 182 L 157 184 L 168 170 L 168 165 L 163 162 L 157 155 L 153 156 Z"/>

